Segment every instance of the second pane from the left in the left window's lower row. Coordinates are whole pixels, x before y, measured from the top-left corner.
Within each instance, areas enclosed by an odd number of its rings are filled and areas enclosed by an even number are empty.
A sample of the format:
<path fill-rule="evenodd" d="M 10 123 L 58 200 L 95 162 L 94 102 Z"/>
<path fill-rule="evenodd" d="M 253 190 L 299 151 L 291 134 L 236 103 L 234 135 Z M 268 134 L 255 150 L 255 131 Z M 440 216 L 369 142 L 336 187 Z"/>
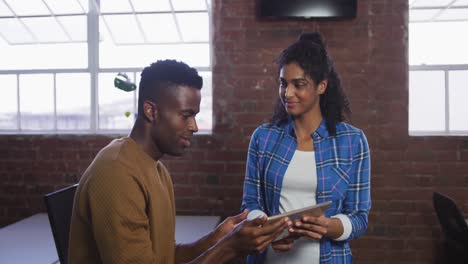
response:
<path fill-rule="evenodd" d="M 54 128 L 54 87 L 52 74 L 20 75 L 21 129 Z"/>

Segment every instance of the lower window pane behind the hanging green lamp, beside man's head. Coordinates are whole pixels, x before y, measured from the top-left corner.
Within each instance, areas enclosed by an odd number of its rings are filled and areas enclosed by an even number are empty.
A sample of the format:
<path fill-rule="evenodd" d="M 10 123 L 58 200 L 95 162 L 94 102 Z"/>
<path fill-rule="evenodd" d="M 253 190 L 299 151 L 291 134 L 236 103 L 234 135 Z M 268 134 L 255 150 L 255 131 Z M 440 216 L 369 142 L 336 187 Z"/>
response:
<path fill-rule="evenodd" d="M 99 74 L 99 129 L 130 129 L 135 121 L 135 91 L 114 87 L 117 73 Z M 132 78 L 132 73 L 127 73 Z M 133 80 L 132 80 L 133 81 Z"/>

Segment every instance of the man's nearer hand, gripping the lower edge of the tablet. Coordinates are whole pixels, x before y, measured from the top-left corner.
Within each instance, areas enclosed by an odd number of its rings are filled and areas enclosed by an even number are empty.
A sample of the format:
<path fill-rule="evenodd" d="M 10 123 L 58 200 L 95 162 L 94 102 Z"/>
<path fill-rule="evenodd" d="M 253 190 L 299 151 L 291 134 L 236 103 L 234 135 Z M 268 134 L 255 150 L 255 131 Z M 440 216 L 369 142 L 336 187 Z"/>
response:
<path fill-rule="evenodd" d="M 259 254 L 292 223 L 288 218 L 264 225 L 268 218 L 258 217 L 243 220 L 226 236 L 229 244 L 238 255 Z"/>

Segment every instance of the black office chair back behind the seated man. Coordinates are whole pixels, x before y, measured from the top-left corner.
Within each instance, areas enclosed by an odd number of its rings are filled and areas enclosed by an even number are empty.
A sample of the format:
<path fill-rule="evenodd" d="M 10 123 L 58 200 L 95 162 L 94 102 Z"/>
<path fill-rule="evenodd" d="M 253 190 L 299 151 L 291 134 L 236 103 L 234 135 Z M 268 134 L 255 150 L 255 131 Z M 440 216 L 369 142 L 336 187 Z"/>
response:
<path fill-rule="evenodd" d="M 68 237 L 73 199 L 77 187 L 78 184 L 75 184 L 44 196 L 50 227 L 61 264 L 68 262 Z"/>

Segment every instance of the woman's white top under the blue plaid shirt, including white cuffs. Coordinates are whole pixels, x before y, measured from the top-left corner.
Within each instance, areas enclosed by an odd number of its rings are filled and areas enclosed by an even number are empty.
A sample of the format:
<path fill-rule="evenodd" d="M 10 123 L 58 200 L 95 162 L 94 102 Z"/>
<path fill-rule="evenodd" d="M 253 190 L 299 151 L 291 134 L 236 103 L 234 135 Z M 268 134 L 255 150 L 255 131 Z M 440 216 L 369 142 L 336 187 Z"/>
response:
<path fill-rule="evenodd" d="M 283 178 L 280 193 L 279 211 L 299 209 L 317 204 L 317 169 L 314 151 L 296 150 Z M 252 211 L 254 215 L 261 212 Z M 344 232 L 336 240 L 345 240 L 351 234 L 352 226 L 349 218 L 343 214 L 336 216 L 343 223 Z M 307 238 L 299 238 L 293 248 L 285 253 L 277 254 L 271 247 L 267 250 L 266 263 L 320 263 L 320 242 Z"/>

